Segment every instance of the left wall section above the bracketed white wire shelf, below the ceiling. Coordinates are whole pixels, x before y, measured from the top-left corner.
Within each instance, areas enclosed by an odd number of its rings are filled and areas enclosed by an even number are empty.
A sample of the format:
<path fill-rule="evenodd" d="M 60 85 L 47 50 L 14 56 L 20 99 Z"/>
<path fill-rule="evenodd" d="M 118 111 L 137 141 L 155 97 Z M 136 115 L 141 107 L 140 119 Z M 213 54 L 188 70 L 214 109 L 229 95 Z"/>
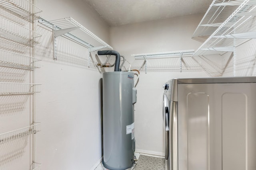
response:
<path fill-rule="evenodd" d="M 83 0 L 39 0 L 36 2 L 36 6 L 43 11 L 41 14 L 43 19 L 51 21 L 71 17 L 109 43 L 109 26 Z"/>

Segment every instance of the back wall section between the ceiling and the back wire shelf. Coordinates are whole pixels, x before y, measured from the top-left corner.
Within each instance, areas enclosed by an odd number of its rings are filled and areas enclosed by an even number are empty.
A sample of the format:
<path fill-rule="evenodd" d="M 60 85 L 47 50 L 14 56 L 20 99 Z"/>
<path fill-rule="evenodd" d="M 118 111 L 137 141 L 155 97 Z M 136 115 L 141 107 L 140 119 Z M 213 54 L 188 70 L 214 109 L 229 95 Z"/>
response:
<path fill-rule="evenodd" d="M 196 50 L 202 43 L 191 37 L 203 15 L 110 27 L 110 42 L 125 57 L 141 53 Z"/>

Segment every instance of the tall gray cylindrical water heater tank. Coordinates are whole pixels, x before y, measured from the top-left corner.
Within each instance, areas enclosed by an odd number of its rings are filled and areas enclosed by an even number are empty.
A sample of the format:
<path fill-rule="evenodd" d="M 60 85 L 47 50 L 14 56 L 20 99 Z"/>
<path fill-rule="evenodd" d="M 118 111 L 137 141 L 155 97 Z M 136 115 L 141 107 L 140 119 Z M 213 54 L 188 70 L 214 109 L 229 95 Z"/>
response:
<path fill-rule="evenodd" d="M 103 73 L 103 165 L 110 170 L 134 164 L 133 77 L 132 72 Z"/>

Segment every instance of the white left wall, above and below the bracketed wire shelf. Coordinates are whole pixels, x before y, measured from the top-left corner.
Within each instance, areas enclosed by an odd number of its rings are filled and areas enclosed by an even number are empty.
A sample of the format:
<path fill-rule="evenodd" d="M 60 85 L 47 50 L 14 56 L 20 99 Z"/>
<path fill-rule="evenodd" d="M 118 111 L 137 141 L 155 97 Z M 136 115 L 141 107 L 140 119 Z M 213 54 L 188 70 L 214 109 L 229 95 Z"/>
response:
<path fill-rule="evenodd" d="M 37 1 L 41 17 L 56 20 L 72 17 L 109 43 L 109 27 L 83 0 Z M 42 131 L 36 136 L 36 161 L 46 170 L 90 170 L 102 157 L 100 79 L 88 49 L 57 37 L 57 60 L 52 59 L 52 31 L 38 23 L 42 43 L 36 57 L 42 59 L 36 82 L 36 121 Z M 93 168 L 94 169 L 94 168 Z"/>

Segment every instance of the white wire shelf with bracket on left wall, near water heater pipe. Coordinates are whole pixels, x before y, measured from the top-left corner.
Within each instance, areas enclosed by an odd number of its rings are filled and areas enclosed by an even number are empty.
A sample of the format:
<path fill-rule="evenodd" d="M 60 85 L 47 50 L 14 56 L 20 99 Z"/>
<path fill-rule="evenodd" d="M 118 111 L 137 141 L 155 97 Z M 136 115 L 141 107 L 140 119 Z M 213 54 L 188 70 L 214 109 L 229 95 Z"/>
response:
<path fill-rule="evenodd" d="M 94 35 L 91 31 L 86 29 L 76 20 L 71 17 L 46 21 L 42 18 L 38 20 L 43 25 L 51 28 L 53 30 L 53 50 L 54 50 L 54 57 L 53 59 L 57 59 L 57 52 L 56 52 L 56 37 L 64 35 L 75 42 L 78 42 L 85 47 L 89 48 L 89 51 L 95 51 L 102 48 L 113 49 L 110 45 L 105 43 L 102 39 Z"/>

